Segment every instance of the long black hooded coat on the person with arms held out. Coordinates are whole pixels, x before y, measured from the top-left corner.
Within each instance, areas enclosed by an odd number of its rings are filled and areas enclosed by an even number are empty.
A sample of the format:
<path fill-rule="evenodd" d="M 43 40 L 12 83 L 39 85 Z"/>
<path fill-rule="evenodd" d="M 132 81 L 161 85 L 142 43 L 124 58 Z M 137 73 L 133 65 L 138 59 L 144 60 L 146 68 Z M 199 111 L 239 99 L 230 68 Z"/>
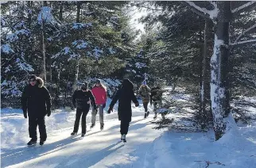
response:
<path fill-rule="evenodd" d="M 132 110 L 131 101 L 134 104 L 138 104 L 138 100 L 134 95 L 134 85 L 130 80 L 124 79 L 122 82 L 122 87 L 114 95 L 111 101 L 110 109 L 113 109 L 114 104 L 118 101 L 118 120 L 131 121 Z"/>

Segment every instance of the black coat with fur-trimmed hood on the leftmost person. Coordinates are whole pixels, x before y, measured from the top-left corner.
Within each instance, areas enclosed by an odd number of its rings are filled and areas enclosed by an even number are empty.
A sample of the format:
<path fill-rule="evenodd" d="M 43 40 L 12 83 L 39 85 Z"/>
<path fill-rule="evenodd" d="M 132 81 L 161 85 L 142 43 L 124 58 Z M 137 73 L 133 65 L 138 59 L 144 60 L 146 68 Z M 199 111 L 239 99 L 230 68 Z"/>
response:
<path fill-rule="evenodd" d="M 37 85 L 25 86 L 21 95 L 23 113 L 29 113 L 29 117 L 41 117 L 51 109 L 51 96 L 44 86 L 44 81 L 37 77 Z"/>

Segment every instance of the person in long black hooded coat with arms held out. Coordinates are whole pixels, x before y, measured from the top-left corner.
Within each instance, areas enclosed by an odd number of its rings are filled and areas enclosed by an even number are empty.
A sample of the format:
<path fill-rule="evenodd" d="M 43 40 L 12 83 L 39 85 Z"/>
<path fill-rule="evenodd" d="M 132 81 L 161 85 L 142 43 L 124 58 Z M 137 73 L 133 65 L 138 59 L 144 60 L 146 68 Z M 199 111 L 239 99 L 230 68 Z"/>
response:
<path fill-rule="evenodd" d="M 134 95 L 134 85 L 129 79 L 124 79 L 122 87 L 114 95 L 111 105 L 107 113 L 111 113 L 114 108 L 114 104 L 118 101 L 118 120 L 121 120 L 120 133 L 121 140 L 126 142 L 126 134 L 128 133 L 129 124 L 131 121 L 132 110 L 131 101 L 134 101 L 136 107 L 138 107 L 138 100 Z"/>

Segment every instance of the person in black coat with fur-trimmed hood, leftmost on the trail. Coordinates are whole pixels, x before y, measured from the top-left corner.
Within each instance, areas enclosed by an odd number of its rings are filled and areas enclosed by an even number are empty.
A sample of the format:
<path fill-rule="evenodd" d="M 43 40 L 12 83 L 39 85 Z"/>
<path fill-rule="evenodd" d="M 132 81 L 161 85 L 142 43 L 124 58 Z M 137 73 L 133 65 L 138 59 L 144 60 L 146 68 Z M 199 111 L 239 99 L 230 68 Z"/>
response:
<path fill-rule="evenodd" d="M 28 145 L 37 143 L 37 125 L 40 132 L 40 145 L 43 145 L 47 139 L 45 116 L 51 115 L 51 96 L 42 78 L 32 74 L 29 82 L 21 95 L 24 117 L 27 118 L 29 115 L 29 137 L 31 139 Z"/>

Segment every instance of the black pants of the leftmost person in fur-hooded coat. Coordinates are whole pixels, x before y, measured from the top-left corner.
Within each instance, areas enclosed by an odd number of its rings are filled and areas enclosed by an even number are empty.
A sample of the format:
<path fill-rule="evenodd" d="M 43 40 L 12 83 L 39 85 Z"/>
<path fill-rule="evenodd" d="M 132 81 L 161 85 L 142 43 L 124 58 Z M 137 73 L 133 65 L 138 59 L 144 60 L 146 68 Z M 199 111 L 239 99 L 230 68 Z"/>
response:
<path fill-rule="evenodd" d="M 29 137 L 37 140 L 37 125 L 40 132 L 40 139 L 45 141 L 47 138 L 45 127 L 45 116 L 41 117 L 29 117 Z"/>

